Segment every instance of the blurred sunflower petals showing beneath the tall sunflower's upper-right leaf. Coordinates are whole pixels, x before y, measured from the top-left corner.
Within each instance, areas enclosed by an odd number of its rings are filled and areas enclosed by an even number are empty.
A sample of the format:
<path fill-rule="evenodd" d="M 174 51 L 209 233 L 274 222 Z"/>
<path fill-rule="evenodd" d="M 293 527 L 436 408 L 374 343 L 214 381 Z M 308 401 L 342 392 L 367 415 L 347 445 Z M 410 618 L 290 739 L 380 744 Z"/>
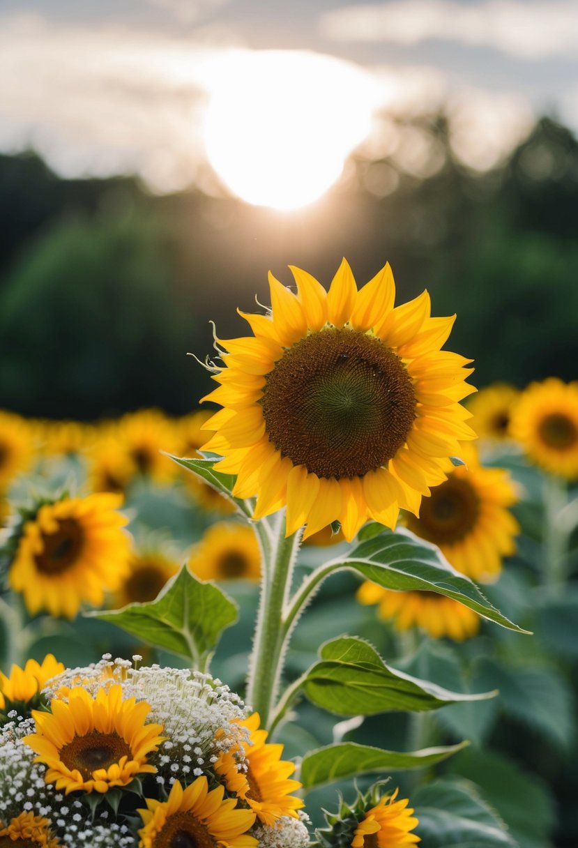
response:
<path fill-rule="evenodd" d="M 463 642 L 480 629 L 480 616 L 457 600 L 437 592 L 393 592 L 366 580 L 358 589 L 360 604 L 379 604 L 378 615 L 397 630 L 420 627 L 432 639 L 447 636 Z"/>

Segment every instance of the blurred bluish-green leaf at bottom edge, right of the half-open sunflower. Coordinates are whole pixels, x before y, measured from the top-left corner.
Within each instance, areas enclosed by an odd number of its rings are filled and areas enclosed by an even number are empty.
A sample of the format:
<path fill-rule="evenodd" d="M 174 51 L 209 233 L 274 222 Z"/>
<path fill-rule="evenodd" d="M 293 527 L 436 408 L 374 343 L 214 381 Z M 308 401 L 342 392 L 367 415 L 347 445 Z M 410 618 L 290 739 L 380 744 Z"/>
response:
<path fill-rule="evenodd" d="M 423 848 L 519 848 L 469 780 L 438 780 L 411 798 Z"/>

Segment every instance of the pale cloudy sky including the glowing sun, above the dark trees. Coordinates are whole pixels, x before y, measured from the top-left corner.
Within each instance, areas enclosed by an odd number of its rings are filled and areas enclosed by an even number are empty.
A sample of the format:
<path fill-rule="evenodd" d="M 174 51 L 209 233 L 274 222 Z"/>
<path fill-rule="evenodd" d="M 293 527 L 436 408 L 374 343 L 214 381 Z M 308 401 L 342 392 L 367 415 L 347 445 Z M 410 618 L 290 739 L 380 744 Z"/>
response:
<path fill-rule="evenodd" d="M 532 112 L 578 130 L 578 0 L 0 3 L 0 150 L 36 148 L 65 176 L 136 172 L 292 209 L 361 142 L 435 170 L 387 115 L 446 102 L 478 169 Z"/>

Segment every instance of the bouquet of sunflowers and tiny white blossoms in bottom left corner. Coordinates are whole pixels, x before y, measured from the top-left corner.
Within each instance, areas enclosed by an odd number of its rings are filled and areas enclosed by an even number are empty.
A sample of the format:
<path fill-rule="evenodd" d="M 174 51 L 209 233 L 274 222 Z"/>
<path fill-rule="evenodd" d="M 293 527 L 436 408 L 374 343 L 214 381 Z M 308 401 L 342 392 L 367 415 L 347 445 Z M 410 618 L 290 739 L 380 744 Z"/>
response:
<path fill-rule="evenodd" d="M 19 709 L 0 731 L 0 845 L 305 848 L 295 767 L 258 715 L 208 674 L 140 659 L 3 676 Z"/>

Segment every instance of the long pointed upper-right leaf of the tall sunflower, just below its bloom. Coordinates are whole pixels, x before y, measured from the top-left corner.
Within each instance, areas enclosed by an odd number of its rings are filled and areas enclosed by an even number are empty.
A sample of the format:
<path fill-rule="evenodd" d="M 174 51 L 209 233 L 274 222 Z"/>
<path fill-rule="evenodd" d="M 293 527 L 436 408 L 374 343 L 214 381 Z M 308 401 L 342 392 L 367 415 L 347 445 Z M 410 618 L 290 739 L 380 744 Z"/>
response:
<path fill-rule="evenodd" d="M 385 589 L 428 591 L 458 600 L 470 610 L 518 633 L 529 633 L 502 615 L 468 577 L 455 571 L 435 545 L 405 528 L 364 541 L 336 568 L 350 568 Z"/>

